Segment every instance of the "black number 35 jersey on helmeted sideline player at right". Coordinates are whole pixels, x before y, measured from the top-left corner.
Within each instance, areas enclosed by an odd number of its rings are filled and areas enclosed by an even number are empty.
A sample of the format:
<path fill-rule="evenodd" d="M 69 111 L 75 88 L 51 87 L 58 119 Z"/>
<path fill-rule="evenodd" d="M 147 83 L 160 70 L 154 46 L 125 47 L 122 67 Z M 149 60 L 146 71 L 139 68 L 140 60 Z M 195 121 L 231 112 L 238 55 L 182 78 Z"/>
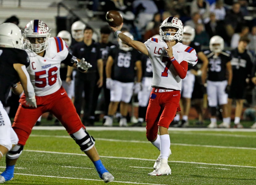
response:
<path fill-rule="evenodd" d="M 230 52 L 221 52 L 215 58 L 214 54 L 207 50 L 204 52 L 209 60 L 208 63 L 208 80 L 210 81 L 224 81 L 227 80 L 227 67 L 226 64 L 231 61 Z"/>

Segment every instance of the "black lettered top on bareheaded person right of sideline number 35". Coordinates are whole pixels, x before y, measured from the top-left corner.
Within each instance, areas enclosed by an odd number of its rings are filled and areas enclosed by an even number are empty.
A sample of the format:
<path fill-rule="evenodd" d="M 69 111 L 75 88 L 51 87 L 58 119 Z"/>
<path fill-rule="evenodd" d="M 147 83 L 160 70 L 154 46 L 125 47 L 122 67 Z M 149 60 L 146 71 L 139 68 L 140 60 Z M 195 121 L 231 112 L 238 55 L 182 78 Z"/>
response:
<path fill-rule="evenodd" d="M 231 57 L 233 71 L 232 85 L 245 86 L 246 78 L 250 77 L 253 68 L 251 53 L 247 50 L 244 53 L 239 53 L 236 48 L 231 51 Z"/>

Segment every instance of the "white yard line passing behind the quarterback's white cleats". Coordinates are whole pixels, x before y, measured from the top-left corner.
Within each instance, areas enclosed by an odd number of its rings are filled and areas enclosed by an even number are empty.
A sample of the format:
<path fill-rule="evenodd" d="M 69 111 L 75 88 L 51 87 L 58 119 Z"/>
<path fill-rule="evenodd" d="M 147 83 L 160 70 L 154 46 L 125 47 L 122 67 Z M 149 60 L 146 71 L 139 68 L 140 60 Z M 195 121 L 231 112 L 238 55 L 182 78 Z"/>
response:
<path fill-rule="evenodd" d="M 76 153 L 66 153 L 66 152 L 51 152 L 51 151 L 41 151 L 41 150 L 24 150 L 26 152 L 39 152 L 39 153 L 51 153 L 51 154 L 62 154 L 62 155 L 83 155 Z M 155 161 L 155 159 L 143 159 L 143 158 L 133 158 L 133 157 L 115 157 L 115 156 L 100 156 L 102 158 L 111 159 L 130 159 L 130 160 L 143 160 L 143 161 Z M 230 167 L 246 167 L 246 168 L 256 168 L 256 166 L 241 166 L 241 165 L 231 165 L 231 164 L 215 164 L 215 163 L 199 163 L 199 162 L 188 162 L 188 161 L 168 161 L 171 163 L 190 163 L 190 164 L 205 164 L 205 165 L 215 165 L 215 166 L 230 166 Z"/>

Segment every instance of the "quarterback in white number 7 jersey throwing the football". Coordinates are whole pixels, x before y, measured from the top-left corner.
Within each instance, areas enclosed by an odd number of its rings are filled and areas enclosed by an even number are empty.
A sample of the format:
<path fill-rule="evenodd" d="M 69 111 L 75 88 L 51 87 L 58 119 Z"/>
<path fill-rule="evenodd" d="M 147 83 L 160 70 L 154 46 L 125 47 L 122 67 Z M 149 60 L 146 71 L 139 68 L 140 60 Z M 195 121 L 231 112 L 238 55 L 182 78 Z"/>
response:
<path fill-rule="evenodd" d="M 181 79 L 187 74 L 188 63 L 196 65 L 196 51 L 179 42 L 183 35 L 183 24 L 176 17 L 166 18 L 161 23 L 161 39 L 150 38 L 144 43 L 124 35 L 120 31 L 122 25 L 110 27 L 124 43 L 149 56 L 153 68 L 153 90 L 147 108 L 146 135 L 147 140 L 160 150 L 160 155 L 154 164 L 155 170 L 148 175 L 169 175 L 171 168 L 167 160 L 171 150 L 168 128 L 177 110 L 180 111 Z"/>

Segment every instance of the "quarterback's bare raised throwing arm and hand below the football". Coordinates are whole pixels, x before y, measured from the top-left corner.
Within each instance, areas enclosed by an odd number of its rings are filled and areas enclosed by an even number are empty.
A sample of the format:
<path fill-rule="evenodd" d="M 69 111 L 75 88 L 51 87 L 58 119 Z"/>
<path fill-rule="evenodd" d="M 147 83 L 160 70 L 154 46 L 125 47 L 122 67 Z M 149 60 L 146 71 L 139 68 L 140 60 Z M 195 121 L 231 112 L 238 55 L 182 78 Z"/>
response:
<path fill-rule="evenodd" d="M 132 40 L 130 37 L 127 37 L 125 34 L 123 34 L 120 30 L 123 26 L 123 23 L 120 26 L 117 27 L 112 27 L 110 26 L 110 28 L 115 32 L 115 34 L 127 45 L 129 45 L 130 47 L 137 49 L 139 52 L 144 53 L 145 55 L 149 55 L 148 54 L 148 50 L 146 48 L 146 45 L 140 41 L 134 41 Z"/>

